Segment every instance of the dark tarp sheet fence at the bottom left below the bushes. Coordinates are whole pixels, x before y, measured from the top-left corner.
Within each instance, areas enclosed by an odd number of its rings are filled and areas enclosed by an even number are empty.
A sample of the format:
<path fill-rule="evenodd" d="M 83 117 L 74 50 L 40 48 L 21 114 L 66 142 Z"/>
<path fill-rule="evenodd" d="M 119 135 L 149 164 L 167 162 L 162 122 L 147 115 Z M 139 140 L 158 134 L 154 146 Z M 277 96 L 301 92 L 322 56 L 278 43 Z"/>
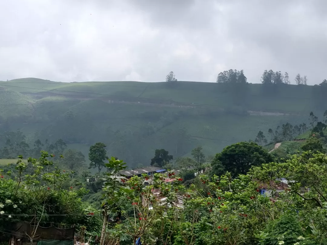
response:
<path fill-rule="evenodd" d="M 26 221 L 17 223 L 11 229 L 11 234 L 22 240 L 29 239 L 31 233 L 34 234 L 36 226 L 29 224 Z M 27 234 L 27 235 L 26 235 Z M 75 228 L 59 229 L 51 226 L 48 228 L 39 226 L 36 230 L 34 238 L 37 240 L 74 240 Z"/>

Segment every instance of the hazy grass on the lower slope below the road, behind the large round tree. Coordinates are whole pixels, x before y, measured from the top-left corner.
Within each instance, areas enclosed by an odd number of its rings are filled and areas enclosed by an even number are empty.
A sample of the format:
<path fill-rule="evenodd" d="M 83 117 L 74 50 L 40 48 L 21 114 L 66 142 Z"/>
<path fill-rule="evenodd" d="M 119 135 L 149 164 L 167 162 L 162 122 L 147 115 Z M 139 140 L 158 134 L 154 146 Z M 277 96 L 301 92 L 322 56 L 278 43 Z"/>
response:
<path fill-rule="evenodd" d="M 173 131 L 184 127 L 190 137 L 188 141 L 189 149 L 201 145 L 205 155 L 214 155 L 227 145 L 239 141 L 248 141 L 249 139 L 253 140 L 259 130 L 267 132 L 270 127 L 274 127 L 281 121 L 287 122 L 287 118 L 285 116 L 268 118 L 268 116 L 225 115 L 217 119 L 180 119 L 159 130 L 141 144 L 146 146 L 146 155 L 151 156 L 157 148 L 164 148 L 173 155 L 178 155 L 178 153 L 176 154 L 174 140 L 167 138 L 167 135 L 169 135 L 169 130 Z M 185 153 L 185 155 L 189 155 L 189 152 Z"/>

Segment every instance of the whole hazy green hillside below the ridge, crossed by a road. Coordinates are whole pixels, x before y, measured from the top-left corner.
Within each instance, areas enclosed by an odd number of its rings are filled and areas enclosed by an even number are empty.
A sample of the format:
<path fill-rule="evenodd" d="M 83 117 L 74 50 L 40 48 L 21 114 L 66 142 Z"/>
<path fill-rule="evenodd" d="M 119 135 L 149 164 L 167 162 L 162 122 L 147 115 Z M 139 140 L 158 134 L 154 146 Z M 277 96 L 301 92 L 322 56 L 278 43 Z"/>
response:
<path fill-rule="evenodd" d="M 148 165 L 155 149 L 174 158 L 199 145 L 214 155 L 226 145 L 254 140 L 259 130 L 308 124 L 324 110 L 315 86 L 230 88 L 204 82 L 74 82 L 36 78 L 0 82 L 1 132 L 20 129 L 30 140 L 61 138 L 87 155 L 107 144 L 129 165 Z M 17 118 L 17 116 L 24 118 Z M 268 137 L 268 136 L 267 136 Z M 1 146 L 0 146 L 1 147 Z"/>

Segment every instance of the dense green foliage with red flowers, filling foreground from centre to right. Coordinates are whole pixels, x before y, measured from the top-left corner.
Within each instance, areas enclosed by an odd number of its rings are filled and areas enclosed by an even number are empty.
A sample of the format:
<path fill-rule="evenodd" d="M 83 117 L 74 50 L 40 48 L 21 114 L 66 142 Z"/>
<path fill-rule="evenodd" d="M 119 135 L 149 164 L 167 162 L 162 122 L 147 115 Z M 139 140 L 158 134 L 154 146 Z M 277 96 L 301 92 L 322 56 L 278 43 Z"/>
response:
<path fill-rule="evenodd" d="M 116 169 L 104 190 L 107 214 L 118 217 L 118 212 L 121 219 L 110 224 L 110 230 L 120 231 L 114 237 L 120 244 L 138 237 L 145 243 L 175 245 L 327 243 L 324 154 L 303 152 L 285 162 L 252 167 L 247 175 L 235 178 L 229 172 L 211 179 L 202 174 L 189 188 L 181 178 L 167 183 L 162 174 L 155 174 L 150 186 L 143 184 L 146 174 L 120 181 L 118 170 L 124 163 L 112 159 L 107 166 Z M 168 176 L 175 178 L 171 172 Z M 260 194 L 262 183 L 277 183 L 281 176 L 293 180 L 289 189 L 272 192 L 271 197 Z M 153 188 L 158 189 L 158 197 L 166 198 L 165 204 L 151 194 Z M 183 208 L 173 205 L 178 196 L 183 197 Z M 117 203 L 119 210 L 112 207 Z"/>

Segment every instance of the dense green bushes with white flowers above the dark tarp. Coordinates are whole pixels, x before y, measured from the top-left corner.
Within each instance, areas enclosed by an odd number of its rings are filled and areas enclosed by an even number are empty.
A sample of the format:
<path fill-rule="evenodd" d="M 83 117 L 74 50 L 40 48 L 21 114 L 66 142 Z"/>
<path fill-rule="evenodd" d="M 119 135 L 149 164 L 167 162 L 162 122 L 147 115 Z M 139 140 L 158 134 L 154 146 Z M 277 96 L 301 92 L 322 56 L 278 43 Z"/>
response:
<path fill-rule="evenodd" d="M 13 170 L 0 169 L 0 240 L 8 237 L 12 224 L 19 221 L 35 222 L 43 227 L 55 224 L 96 226 L 90 217 L 95 208 L 83 203 L 87 190 L 73 182 L 74 172 L 58 168 L 60 160 L 42 151 L 39 159 L 19 156 Z"/>

